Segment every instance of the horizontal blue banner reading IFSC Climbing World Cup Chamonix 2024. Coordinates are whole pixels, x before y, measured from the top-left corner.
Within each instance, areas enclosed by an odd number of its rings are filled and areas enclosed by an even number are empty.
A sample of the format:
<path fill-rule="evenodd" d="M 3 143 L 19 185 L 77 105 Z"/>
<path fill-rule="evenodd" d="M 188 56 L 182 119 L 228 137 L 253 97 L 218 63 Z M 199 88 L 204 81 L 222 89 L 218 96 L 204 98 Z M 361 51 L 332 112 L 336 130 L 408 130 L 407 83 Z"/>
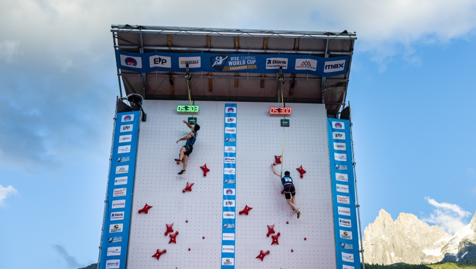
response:
<path fill-rule="evenodd" d="M 236 53 L 134 53 L 116 51 L 117 68 L 147 73 L 152 71 L 184 72 L 246 72 L 303 73 L 318 76 L 345 74 L 349 56 L 323 58 L 299 54 L 236 54 Z"/>

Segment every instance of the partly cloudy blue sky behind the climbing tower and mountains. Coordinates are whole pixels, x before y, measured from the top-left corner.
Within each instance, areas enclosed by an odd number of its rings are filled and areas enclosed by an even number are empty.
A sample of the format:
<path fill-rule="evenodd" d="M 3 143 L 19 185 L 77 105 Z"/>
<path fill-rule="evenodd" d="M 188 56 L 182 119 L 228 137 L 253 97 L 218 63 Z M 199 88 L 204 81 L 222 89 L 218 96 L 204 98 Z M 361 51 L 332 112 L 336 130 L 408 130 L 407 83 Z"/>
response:
<path fill-rule="evenodd" d="M 174 5 L 0 0 L 0 267 L 97 260 L 118 94 L 113 23 L 356 31 L 347 100 L 363 226 L 382 208 L 449 232 L 469 222 L 474 1 L 208 1 L 193 16 Z"/>

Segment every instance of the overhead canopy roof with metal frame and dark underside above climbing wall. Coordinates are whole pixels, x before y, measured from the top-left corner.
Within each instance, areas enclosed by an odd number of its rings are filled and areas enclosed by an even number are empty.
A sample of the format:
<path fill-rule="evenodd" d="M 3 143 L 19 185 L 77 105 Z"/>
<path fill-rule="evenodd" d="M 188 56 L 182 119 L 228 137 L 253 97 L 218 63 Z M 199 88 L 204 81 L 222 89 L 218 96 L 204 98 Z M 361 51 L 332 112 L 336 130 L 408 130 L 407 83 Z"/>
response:
<path fill-rule="evenodd" d="M 221 28 L 192 28 L 141 25 L 111 25 L 114 49 L 123 53 L 214 53 L 311 55 L 323 58 L 348 56 L 345 73 L 319 76 L 309 73 L 284 73 L 282 85 L 286 102 L 326 103 L 329 113 L 337 113 L 345 103 L 355 33 L 317 31 L 276 31 Z M 116 51 L 117 52 L 117 51 Z M 116 55 L 118 55 L 116 53 Z M 174 54 L 175 55 L 175 54 Z M 148 64 L 145 63 L 144 64 Z M 187 100 L 185 70 L 126 70 L 117 65 L 126 95 L 137 93 L 145 99 Z M 271 70 L 270 70 L 271 71 Z M 190 69 L 192 100 L 236 100 L 276 102 L 281 98 L 277 72 L 194 72 Z M 169 83 L 169 76 L 174 85 Z M 291 89 L 292 80 L 295 80 Z M 122 91 L 121 91 L 122 96 Z"/>

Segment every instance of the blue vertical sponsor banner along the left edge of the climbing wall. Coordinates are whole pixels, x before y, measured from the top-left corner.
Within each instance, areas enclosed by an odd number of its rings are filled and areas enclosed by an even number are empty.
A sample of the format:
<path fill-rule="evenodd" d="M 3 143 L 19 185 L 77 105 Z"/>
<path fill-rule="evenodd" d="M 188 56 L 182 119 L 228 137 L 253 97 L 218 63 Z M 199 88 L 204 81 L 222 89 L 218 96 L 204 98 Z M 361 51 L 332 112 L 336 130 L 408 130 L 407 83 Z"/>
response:
<path fill-rule="evenodd" d="M 117 113 L 100 269 L 126 268 L 140 111 Z"/>

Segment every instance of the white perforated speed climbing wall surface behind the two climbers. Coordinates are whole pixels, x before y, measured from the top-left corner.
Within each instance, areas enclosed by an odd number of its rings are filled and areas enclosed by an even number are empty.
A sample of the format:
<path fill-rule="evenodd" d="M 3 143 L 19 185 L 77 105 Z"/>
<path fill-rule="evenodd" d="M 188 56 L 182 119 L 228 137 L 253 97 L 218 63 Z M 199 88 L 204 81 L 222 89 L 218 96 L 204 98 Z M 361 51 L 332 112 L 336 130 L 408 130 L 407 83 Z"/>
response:
<path fill-rule="evenodd" d="M 201 130 L 184 175 L 177 174 L 181 165 L 173 161 L 184 142 L 175 141 L 188 133 L 181 121 L 191 115 L 176 112 L 179 103 L 186 102 L 143 103 L 147 122 L 140 125 L 128 268 L 221 267 L 225 102 L 195 102 L 200 105 L 194 117 Z M 302 212 L 297 219 L 281 195 L 280 178 L 270 168 L 274 155 L 281 155 L 283 127 L 282 116 L 268 111 L 281 103 L 226 103 L 237 104 L 235 267 L 335 268 L 324 105 L 287 104 L 292 114 L 284 131 L 284 168 L 296 186 L 297 208 Z M 206 177 L 200 169 L 205 163 L 210 169 Z M 301 165 L 304 178 L 296 170 Z M 182 193 L 186 182 L 194 183 L 192 191 Z M 145 203 L 153 207 L 148 214 L 138 214 Z M 245 205 L 253 208 L 250 214 L 238 215 Z M 168 244 L 166 223 L 174 223 L 174 232 L 178 230 L 177 244 Z M 276 234 L 281 233 L 279 245 L 271 245 L 271 236 L 266 237 L 266 225 L 272 224 Z M 167 253 L 156 260 L 151 257 L 156 249 Z M 255 258 L 260 250 L 270 251 L 263 261 Z"/>

